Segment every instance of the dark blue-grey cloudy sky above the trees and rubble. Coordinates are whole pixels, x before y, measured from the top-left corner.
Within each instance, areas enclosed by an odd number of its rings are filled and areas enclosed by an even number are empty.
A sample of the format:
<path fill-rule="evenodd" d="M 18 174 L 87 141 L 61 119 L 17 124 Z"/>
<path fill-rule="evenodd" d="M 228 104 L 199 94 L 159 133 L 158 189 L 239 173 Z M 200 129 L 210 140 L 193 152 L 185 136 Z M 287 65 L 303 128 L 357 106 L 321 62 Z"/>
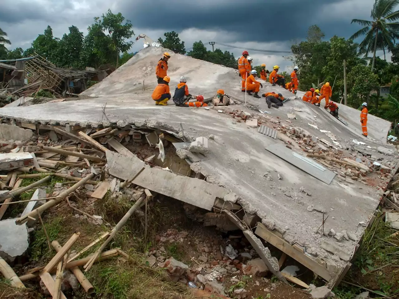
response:
<path fill-rule="evenodd" d="M 194 41 L 215 41 L 253 49 L 289 51 L 293 41 L 306 38 L 309 26 L 317 24 L 326 34 L 350 37 L 359 27 L 351 20 L 369 20 L 374 0 L 1 0 L 0 28 L 8 33 L 9 49 L 30 47 L 47 25 L 62 37 L 71 25 L 84 34 L 109 8 L 122 12 L 134 33 L 154 41 L 166 31 L 176 31 L 186 48 Z M 134 37 L 133 37 L 134 39 Z M 131 51 L 142 49 L 141 40 Z M 208 46 L 211 49 L 211 46 Z M 220 47 L 236 57 L 242 50 Z M 255 65 L 293 67 L 282 55 L 249 51 Z"/>

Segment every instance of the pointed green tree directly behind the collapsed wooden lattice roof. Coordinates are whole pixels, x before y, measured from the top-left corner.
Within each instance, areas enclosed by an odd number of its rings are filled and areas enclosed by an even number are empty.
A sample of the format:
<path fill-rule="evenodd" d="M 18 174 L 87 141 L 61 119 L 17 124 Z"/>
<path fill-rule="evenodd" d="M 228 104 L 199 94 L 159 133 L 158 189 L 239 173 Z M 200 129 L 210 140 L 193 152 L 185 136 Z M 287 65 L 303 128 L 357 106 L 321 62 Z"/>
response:
<path fill-rule="evenodd" d="M 32 46 L 26 49 L 24 56 L 35 55 L 36 53 L 56 65 L 58 59 L 58 43 L 59 39 L 53 37 L 53 30 L 50 26 L 47 26 L 44 33 L 39 34 L 39 36 L 32 42 Z"/>

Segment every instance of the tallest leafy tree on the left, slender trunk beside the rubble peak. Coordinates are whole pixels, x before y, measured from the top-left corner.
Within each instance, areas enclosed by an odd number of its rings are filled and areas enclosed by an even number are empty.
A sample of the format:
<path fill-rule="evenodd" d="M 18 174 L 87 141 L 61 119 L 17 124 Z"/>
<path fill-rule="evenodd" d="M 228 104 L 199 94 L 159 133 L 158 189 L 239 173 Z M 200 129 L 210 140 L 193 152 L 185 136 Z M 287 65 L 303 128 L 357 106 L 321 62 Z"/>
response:
<path fill-rule="evenodd" d="M 113 14 L 109 9 L 107 13 L 102 16 L 102 20 L 100 18 L 95 18 L 95 24 L 100 24 L 101 28 L 104 31 L 108 31 L 109 37 L 111 37 L 111 49 L 116 51 L 117 62 L 116 67 L 118 67 L 119 61 L 119 53 L 127 52 L 133 45 L 132 41 L 126 41 L 126 39 L 130 39 L 134 35 L 134 31 L 132 30 L 132 23 L 129 20 L 126 20 L 124 24 L 122 24 L 125 18 L 119 12 L 118 14 Z"/>

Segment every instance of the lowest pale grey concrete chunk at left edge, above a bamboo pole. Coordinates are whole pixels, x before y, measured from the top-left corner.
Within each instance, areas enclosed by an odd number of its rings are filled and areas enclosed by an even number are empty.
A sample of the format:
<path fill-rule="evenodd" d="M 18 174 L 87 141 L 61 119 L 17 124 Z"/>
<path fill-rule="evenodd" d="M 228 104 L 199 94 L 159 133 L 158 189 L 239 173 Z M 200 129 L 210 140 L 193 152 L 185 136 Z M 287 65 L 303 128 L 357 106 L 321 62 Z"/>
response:
<path fill-rule="evenodd" d="M 18 225 L 15 219 L 0 221 L 0 256 L 11 263 L 22 256 L 29 247 L 29 233 L 26 223 Z"/>

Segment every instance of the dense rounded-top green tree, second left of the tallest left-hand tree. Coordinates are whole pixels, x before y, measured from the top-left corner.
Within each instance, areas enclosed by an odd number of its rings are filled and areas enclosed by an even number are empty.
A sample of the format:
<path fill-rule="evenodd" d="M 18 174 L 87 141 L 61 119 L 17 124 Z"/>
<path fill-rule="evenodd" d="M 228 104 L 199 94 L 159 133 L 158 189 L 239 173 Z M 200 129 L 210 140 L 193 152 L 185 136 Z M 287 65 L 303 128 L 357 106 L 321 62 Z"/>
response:
<path fill-rule="evenodd" d="M 83 33 L 76 26 L 69 27 L 58 43 L 57 66 L 63 68 L 83 67 L 81 52 L 83 49 Z"/>

